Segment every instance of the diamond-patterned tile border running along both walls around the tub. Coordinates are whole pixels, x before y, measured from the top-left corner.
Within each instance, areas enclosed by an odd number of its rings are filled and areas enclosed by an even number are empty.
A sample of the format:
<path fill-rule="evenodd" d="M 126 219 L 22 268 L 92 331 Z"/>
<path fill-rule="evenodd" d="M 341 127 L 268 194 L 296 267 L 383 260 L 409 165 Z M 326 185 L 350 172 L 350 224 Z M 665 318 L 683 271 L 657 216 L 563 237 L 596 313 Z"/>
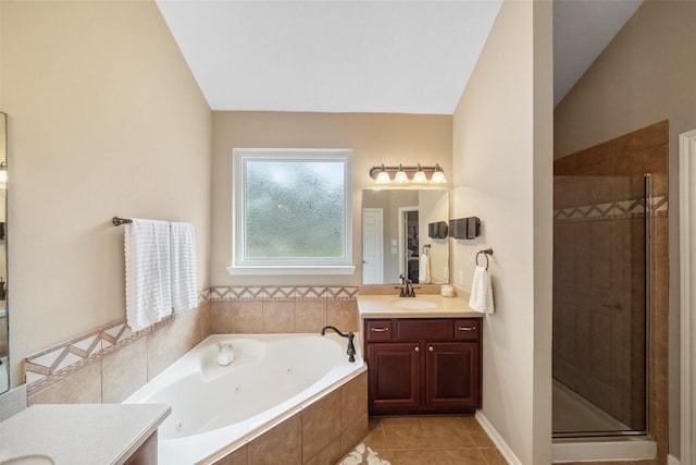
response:
<path fill-rule="evenodd" d="M 210 301 L 355 299 L 357 295 L 357 286 L 215 286 L 199 293 L 198 304 L 200 307 Z M 156 331 L 181 315 L 173 315 L 138 332 L 133 332 L 124 318 L 29 355 L 24 364 L 27 394 L 65 379 L 83 366 Z"/>

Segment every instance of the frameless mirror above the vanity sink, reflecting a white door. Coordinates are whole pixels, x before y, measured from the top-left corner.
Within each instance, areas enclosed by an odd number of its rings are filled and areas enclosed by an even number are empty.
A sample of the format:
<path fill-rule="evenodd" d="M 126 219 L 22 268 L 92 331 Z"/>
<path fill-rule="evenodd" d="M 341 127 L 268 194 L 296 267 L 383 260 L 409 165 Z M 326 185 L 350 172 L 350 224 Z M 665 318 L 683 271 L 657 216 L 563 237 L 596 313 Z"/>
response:
<path fill-rule="evenodd" d="M 414 283 L 449 283 L 449 237 L 442 230 L 445 237 L 428 237 L 430 223 L 448 220 L 448 189 L 364 189 L 362 283 L 399 283 L 401 274 Z"/>

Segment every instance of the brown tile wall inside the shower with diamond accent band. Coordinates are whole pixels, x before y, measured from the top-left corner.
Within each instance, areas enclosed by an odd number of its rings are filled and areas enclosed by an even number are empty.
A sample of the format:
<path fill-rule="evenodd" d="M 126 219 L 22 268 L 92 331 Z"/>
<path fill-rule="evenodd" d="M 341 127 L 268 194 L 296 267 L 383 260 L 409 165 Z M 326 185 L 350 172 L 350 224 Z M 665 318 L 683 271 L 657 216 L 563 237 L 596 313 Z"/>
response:
<path fill-rule="evenodd" d="M 660 456 L 667 445 L 668 137 L 663 121 L 554 163 L 554 377 L 636 429 L 645 403 L 633 389 L 645 375 L 644 174 L 651 174 L 649 408 Z"/>

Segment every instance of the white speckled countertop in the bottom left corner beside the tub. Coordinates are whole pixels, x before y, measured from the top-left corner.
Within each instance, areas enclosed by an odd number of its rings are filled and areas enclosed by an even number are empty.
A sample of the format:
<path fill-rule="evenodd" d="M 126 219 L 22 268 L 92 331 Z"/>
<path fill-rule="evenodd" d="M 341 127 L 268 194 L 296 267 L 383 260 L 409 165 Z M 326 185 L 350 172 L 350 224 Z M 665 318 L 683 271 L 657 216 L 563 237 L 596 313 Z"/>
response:
<path fill-rule="evenodd" d="M 123 464 L 171 413 L 165 404 L 36 404 L 0 423 L 0 462 Z"/>

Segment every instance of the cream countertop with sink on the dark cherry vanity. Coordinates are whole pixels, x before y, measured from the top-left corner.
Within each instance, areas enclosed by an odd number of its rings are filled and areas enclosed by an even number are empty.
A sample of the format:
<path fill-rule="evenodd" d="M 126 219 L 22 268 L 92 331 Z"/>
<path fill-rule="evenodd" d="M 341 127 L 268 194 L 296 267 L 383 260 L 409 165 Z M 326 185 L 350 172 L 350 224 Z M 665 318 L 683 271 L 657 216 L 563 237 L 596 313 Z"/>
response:
<path fill-rule="evenodd" d="M 443 297 L 439 294 L 421 294 L 417 297 L 398 295 L 358 295 L 360 318 L 482 318 L 483 314 L 469 307 L 469 296 Z M 403 308 L 418 306 L 413 301 L 426 301 L 431 308 Z"/>

